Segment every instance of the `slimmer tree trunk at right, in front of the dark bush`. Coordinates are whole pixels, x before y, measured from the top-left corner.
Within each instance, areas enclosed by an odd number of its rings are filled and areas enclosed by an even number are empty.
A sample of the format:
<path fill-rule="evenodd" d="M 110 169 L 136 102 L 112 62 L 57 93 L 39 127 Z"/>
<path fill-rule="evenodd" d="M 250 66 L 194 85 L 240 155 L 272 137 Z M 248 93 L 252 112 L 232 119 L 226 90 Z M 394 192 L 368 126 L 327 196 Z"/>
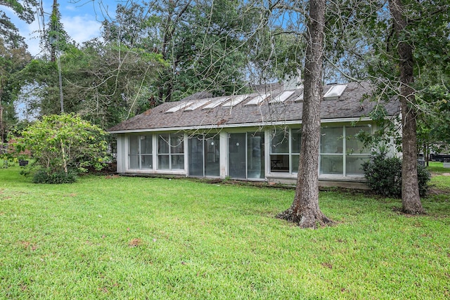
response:
<path fill-rule="evenodd" d="M 414 81 L 413 50 L 402 33 L 406 30 L 406 17 L 401 0 L 389 0 L 389 8 L 394 20 L 394 30 L 399 37 L 398 52 L 400 59 L 400 103 L 403 164 L 401 165 L 401 203 L 407 214 L 423 214 L 420 202 L 417 176 L 417 131 L 416 109 L 411 84 Z"/>

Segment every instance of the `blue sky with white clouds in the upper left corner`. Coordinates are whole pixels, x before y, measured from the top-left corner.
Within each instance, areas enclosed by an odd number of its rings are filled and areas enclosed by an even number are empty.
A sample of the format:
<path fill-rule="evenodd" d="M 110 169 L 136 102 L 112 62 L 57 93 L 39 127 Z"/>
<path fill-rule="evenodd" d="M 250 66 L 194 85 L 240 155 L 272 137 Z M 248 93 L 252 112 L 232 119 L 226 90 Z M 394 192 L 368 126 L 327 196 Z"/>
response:
<path fill-rule="evenodd" d="M 75 1 L 77 2 L 75 3 Z M 53 0 L 41 0 L 41 3 L 44 8 L 44 23 L 46 25 L 49 22 Z M 115 15 L 117 3 L 116 0 L 58 0 L 64 30 L 77 43 L 98 37 L 101 21 Z M 39 55 L 41 53 L 39 30 L 42 29 L 42 19 L 36 14 L 36 20 L 32 24 L 27 24 L 17 18 L 11 9 L 1 6 L 0 10 L 6 12 L 11 21 L 18 27 L 20 35 L 25 37 L 28 51 L 32 56 Z"/>

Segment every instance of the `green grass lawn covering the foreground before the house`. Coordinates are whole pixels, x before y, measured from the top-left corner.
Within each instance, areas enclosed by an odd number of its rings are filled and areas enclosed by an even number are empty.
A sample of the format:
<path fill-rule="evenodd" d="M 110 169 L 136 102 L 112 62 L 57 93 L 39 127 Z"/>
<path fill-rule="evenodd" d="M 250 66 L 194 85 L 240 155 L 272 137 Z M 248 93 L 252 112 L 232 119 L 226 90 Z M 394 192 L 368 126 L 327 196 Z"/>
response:
<path fill-rule="evenodd" d="M 36 185 L 18 171 L 0 169 L 0 299 L 450 298 L 442 191 L 423 199 L 425 216 L 323 191 L 338 224 L 302 230 L 274 219 L 293 190 L 117 176 Z"/>

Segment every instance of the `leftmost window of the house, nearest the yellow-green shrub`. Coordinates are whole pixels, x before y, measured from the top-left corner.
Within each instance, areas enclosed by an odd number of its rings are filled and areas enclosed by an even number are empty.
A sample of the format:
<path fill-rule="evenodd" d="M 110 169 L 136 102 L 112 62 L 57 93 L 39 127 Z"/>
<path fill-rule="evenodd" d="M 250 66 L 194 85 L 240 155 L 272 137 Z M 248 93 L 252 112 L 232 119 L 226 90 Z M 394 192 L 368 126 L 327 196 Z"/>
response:
<path fill-rule="evenodd" d="M 152 169 L 152 136 L 129 136 L 129 169 Z"/>

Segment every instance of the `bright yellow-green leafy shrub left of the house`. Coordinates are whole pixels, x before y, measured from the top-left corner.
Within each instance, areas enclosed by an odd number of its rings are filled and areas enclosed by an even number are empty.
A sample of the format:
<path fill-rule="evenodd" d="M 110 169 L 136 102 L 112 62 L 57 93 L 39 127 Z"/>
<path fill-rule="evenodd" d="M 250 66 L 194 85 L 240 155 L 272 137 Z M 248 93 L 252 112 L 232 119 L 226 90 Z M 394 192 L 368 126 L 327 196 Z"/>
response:
<path fill-rule="evenodd" d="M 77 115 L 45 116 L 28 126 L 22 136 L 19 143 L 32 152 L 50 181 L 59 181 L 58 174 L 68 174 L 71 169 L 102 169 L 108 159 L 105 131 Z M 53 178 L 53 174 L 57 175 Z"/>

